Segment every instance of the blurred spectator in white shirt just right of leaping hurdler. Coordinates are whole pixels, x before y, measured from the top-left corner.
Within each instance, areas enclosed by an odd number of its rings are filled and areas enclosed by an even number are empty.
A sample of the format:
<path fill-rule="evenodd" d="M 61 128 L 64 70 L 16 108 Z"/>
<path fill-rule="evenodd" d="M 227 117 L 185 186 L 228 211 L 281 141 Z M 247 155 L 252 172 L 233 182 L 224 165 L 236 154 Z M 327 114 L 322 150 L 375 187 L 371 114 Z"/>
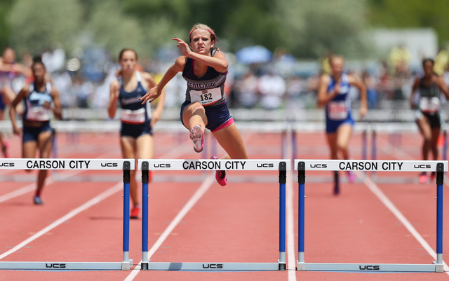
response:
<path fill-rule="evenodd" d="M 286 93 L 286 81 L 273 69 L 258 79 L 260 92 L 260 105 L 263 109 L 279 109 L 282 105 L 283 95 Z"/>

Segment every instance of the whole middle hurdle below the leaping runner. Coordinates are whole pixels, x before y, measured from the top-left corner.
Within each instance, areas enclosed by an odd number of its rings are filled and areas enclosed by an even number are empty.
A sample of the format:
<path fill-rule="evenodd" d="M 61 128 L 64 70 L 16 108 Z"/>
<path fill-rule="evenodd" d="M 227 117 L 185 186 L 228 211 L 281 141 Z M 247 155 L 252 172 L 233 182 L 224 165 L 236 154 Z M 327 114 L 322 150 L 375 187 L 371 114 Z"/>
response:
<path fill-rule="evenodd" d="M 139 159 L 142 170 L 142 270 L 286 270 L 286 171 L 288 160 Z M 150 262 L 148 259 L 148 170 L 279 171 L 279 259 L 276 263 Z"/>

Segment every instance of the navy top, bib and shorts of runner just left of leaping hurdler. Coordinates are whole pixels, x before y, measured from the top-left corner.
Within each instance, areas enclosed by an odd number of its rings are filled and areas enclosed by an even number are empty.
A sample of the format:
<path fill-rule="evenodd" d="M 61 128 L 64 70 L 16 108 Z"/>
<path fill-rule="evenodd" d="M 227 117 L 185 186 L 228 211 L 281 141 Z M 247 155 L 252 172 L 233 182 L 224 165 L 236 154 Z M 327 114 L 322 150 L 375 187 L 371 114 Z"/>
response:
<path fill-rule="evenodd" d="M 123 89 L 121 77 L 119 77 L 120 93 L 119 102 L 121 107 L 121 130 L 120 135 L 138 138 L 141 135 L 153 135 L 150 126 L 151 107 L 149 102 L 142 104 L 140 98 L 147 93 L 147 89 L 142 85 L 142 75 L 135 71 L 138 80 L 138 86 L 132 92 L 126 92 Z"/>

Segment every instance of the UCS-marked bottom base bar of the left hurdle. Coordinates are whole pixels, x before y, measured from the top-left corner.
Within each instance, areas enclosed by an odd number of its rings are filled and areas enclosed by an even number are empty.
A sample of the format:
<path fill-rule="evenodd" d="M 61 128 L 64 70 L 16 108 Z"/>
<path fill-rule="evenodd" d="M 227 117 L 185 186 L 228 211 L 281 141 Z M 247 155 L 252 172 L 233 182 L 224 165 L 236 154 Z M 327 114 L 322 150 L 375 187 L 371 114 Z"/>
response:
<path fill-rule="evenodd" d="M 132 259 L 129 262 L 0 261 L 0 270 L 130 270 L 132 265 Z"/>

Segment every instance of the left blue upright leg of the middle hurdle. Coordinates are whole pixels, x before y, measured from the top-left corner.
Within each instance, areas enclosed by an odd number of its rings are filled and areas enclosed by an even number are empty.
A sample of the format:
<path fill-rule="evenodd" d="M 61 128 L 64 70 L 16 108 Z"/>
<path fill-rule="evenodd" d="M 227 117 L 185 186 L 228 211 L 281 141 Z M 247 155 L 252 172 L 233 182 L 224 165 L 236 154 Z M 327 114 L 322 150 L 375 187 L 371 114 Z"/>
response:
<path fill-rule="evenodd" d="M 149 164 L 142 162 L 142 270 L 148 270 L 148 183 Z"/>

